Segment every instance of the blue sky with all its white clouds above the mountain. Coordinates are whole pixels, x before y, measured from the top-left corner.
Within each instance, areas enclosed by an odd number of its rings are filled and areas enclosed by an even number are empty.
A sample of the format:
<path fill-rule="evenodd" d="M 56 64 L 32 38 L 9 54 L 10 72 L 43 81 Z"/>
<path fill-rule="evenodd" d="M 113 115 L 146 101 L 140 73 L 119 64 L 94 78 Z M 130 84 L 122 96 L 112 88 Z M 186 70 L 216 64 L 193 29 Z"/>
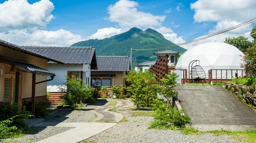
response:
<path fill-rule="evenodd" d="M 15 45 L 70 46 L 133 27 L 179 44 L 256 18 L 256 0 L 0 0 L 0 39 Z M 251 23 L 182 46 L 245 36 Z M 88 45 L 90 46 L 90 45 Z"/>

